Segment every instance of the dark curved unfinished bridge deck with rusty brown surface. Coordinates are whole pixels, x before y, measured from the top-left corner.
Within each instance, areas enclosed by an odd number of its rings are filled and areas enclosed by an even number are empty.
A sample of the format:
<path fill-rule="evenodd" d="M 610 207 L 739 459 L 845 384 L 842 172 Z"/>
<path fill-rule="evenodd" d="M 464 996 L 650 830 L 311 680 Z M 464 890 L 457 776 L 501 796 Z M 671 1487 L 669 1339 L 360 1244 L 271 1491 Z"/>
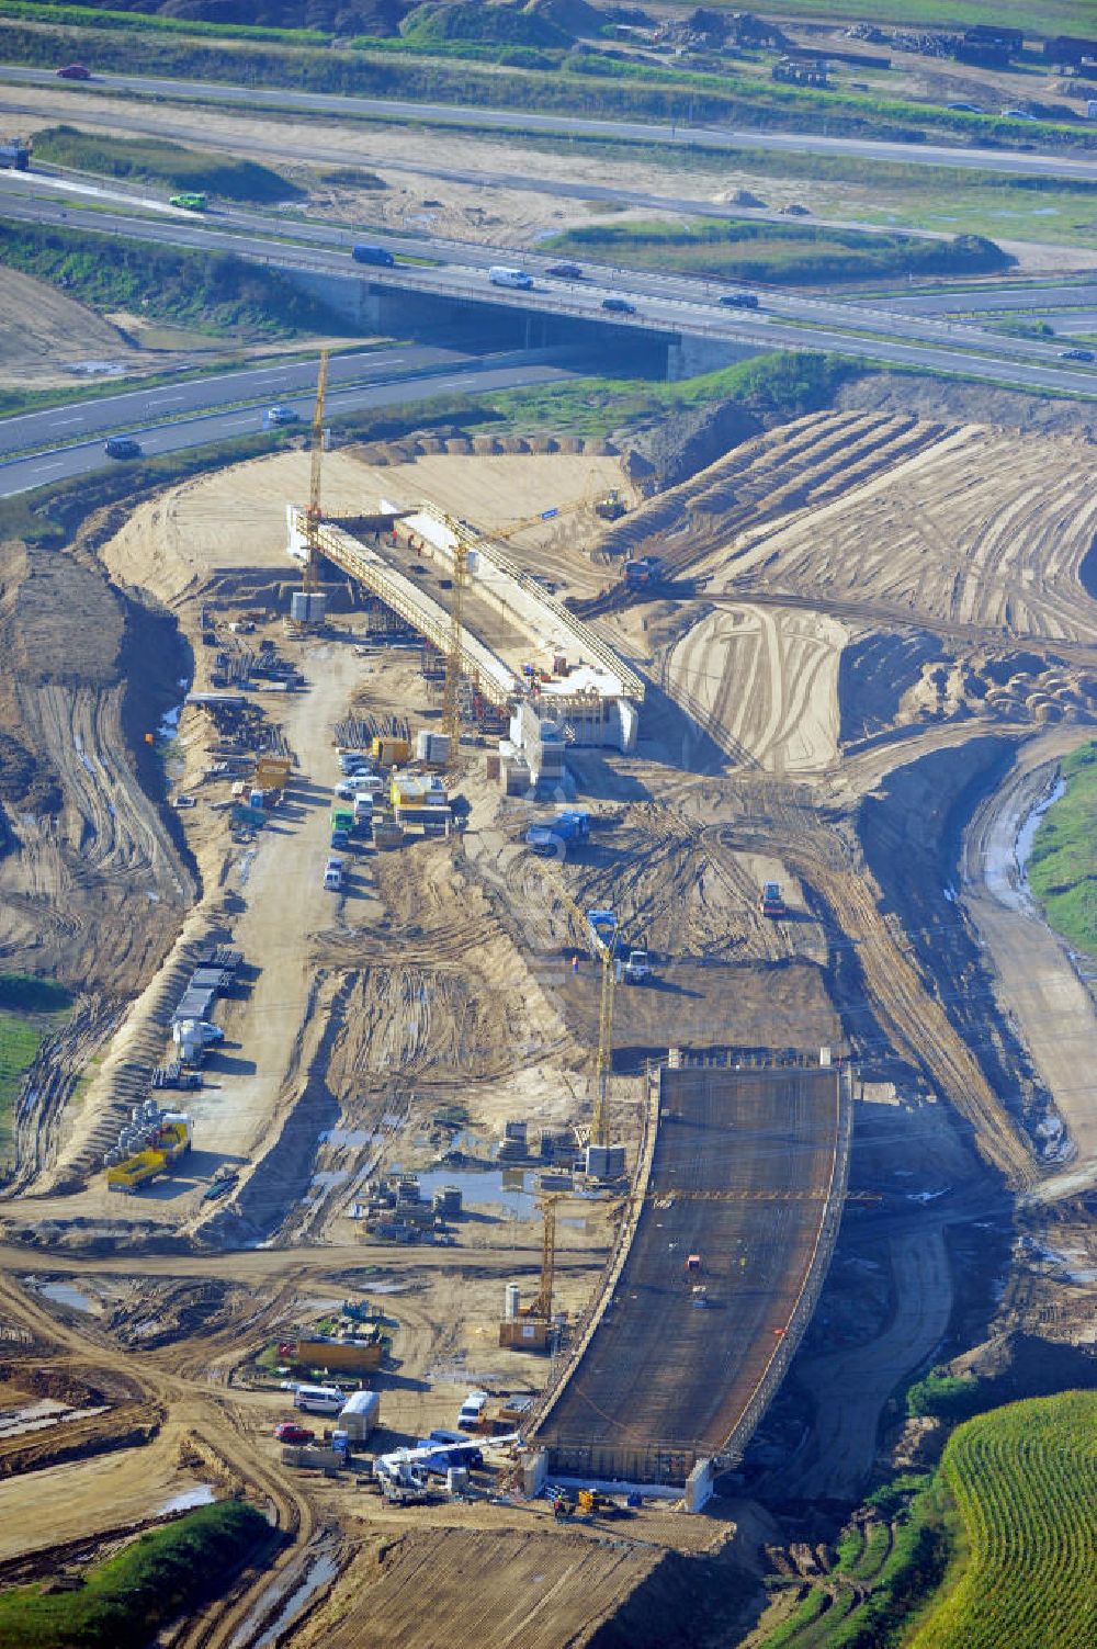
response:
<path fill-rule="evenodd" d="M 850 1126 L 835 1070 L 665 1070 L 660 1111 L 612 1301 L 536 1431 L 561 1474 L 683 1482 L 736 1459 L 830 1261 Z"/>

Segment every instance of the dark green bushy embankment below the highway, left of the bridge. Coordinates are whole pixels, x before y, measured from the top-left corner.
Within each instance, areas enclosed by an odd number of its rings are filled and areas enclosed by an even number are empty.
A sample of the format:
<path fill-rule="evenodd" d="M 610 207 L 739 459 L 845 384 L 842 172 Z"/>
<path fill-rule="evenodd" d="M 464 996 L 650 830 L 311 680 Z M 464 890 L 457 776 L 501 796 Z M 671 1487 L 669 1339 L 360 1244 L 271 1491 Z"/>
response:
<path fill-rule="evenodd" d="M 272 269 L 229 252 L 191 252 L 112 234 L 3 223 L 0 264 L 97 310 L 132 310 L 210 333 L 292 338 L 346 331 Z"/>

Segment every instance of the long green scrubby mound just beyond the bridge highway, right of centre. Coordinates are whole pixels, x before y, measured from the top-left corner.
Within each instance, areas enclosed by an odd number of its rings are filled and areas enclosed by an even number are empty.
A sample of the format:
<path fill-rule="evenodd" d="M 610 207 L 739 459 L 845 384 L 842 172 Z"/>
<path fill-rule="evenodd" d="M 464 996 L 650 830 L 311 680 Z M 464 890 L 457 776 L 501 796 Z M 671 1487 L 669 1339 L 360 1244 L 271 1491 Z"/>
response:
<path fill-rule="evenodd" d="M 993 241 L 973 234 L 952 241 L 912 241 L 897 234 L 721 218 L 699 218 L 688 224 L 582 224 L 541 246 L 629 269 L 675 269 L 765 285 L 822 285 L 909 274 L 975 275 L 1013 264 Z"/>

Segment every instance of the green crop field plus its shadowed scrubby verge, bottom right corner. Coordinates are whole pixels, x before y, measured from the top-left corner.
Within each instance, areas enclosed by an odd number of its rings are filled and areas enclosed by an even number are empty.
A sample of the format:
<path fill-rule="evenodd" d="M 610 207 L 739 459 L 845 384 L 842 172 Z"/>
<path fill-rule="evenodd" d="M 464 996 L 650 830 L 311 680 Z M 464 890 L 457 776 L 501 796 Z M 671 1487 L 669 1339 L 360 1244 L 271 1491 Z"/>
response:
<path fill-rule="evenodd" d="M 975 1380 L 939 1385 L 965 1388 L 929 1405 L 950 1420 L 978 1402 Z M 935 1473 L 868 1497 L 831 1571 L 760 1649 L 1087 1649 L 1095 1423 L 1097 1392 L 1067 1392 L 958 1425 Z"/>

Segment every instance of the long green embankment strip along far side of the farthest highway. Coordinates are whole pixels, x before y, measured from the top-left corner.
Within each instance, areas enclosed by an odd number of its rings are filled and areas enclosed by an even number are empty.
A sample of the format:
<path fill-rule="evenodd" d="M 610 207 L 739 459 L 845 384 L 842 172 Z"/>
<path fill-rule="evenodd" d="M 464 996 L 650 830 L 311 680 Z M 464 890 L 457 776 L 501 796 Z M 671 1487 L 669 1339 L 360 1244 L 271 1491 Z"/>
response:
<path fill-rule="evenodd" d="M 8 21 L 0 25 L 0 56 L 12 63 L 54 66 L 78 58 L 89 68 L 107 73 L 124 64 L 130 74 L 172 74 L 457 102 L 477 109 L 513 109 L 518 125 L 523 109 L 538 109 L 658 122 L 732 122 L 782 130 L 822 130 L 825 125 L 830 135 L 909 142 L 950 135 L 1001 147 L 1033 142 L 1097 147 L 1097 132 L 1084 124 L 972 115 L 897 97 L 823 92 L 782 86 L 759 74 L 698 73 L 671 63 L 647 64 L 589 51 L 572 51 L 551 69 L 520 69 L 454 61 L 439 54 L 440 48 L 416 54 L 403 43 L 394 49 L 388 40 L 370 41 L 370 49 L 365 49 L 366 41 L 360 41 L 363 49 L 297 48 L 244 41 L 229 35 L 214 41 L 203 35 L 134 30 L 129 21 L 117 30 L 89 26 L 86 18 L 79 26 L 59 26 L 56 8 L 28 0 L 0 0 L 0 16 L 5 15 Z M 129 16 L 125 13 L 127 20 Z M 442 45 L 462 48 L 462 41 Z"/>

